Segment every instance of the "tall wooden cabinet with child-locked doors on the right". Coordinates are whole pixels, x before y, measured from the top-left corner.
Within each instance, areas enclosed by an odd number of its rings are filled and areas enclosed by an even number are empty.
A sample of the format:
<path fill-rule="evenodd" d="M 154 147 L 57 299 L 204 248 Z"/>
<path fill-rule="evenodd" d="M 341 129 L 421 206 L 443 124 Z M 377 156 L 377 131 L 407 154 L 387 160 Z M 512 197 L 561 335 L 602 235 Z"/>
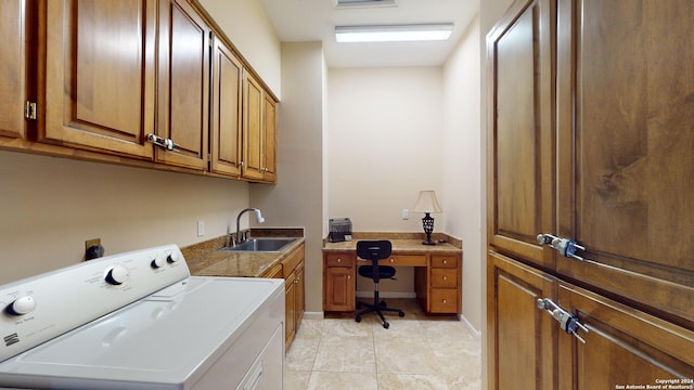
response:
<path fill-rule="evenodd" d="M 487 37 L 490 389 L 694 377 L 692 25 L 686 0 L 518 0 Z"/>

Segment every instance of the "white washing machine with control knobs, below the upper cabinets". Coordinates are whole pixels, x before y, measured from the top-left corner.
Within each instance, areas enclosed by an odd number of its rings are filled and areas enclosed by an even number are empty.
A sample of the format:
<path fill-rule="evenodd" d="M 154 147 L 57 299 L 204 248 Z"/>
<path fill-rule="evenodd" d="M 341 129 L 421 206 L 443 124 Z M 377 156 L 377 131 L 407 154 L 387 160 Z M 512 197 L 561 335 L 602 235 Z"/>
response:
<path fill-rule="evenodd" d="M 190 276 L 175 245 L 0 286 L 0 388 L 282 389 L 284 281 Z"/>

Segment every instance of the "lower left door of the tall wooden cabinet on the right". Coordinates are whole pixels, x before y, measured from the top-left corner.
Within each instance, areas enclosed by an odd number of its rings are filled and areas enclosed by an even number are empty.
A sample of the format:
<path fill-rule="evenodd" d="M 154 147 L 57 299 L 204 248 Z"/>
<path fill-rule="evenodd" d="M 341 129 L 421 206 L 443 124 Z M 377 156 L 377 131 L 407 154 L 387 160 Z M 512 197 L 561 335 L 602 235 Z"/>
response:
<path fill-rule="evenodd" d="M 489 389 L 555 389 L 557 326 L 537 309 L 555 288 L 538 270 L 494 252 L 487 257 Z"/>

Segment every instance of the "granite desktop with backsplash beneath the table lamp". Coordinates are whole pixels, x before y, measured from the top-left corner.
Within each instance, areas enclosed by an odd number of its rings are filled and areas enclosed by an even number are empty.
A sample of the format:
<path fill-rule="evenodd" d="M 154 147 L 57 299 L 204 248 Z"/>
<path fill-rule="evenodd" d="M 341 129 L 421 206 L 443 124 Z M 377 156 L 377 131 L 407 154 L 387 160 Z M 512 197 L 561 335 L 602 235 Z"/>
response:
<path fill-rule="evenodd" d="M 394 252 L 408 253 L 460 253 L 462 252 L 462 243 L 445 236 L 433 236 L 437 240 L 436 245 L 423 245 L 423 237 L 419 234 L 411 233 L 355 233 L 352 239 L 343 243 L 330 243 L 327 239 L 323 242 L 324 251 L 346 251 L 357 250 L 357 242 L 360 239 L 389 239 L 393 244 Z M 439 243 L 442 239 L 445 242 Z"/>

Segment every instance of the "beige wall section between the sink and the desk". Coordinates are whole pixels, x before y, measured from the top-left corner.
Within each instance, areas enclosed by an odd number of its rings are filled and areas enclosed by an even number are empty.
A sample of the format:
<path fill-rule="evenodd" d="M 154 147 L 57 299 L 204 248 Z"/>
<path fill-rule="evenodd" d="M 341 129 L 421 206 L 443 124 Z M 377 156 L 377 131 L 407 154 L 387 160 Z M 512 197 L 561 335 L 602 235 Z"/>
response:
<path fill-rule="evenodd" d="M 323 310 L 323 74 L 321 42 L 282 44 L 279 179 L 250 184 L 250 205 L 262 210 L 266 226 L 304 227 L 308 312 Z"/>

